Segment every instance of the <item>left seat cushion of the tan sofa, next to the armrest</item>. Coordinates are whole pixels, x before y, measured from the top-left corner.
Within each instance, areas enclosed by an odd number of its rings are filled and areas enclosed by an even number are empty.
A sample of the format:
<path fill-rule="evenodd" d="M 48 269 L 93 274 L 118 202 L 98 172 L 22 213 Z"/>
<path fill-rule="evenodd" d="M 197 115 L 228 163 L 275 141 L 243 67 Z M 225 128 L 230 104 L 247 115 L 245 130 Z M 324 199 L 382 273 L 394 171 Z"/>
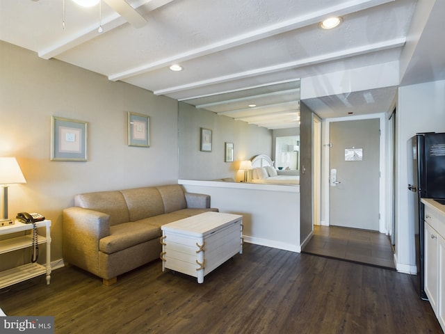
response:
<path fill-rule="evenodd" d="M 99 250 L 112 254 L 158 237 L 161 237 L 161 230 L 154 225 L 122 223 L 111 226 L 110 235 L 99 240 Z"/>

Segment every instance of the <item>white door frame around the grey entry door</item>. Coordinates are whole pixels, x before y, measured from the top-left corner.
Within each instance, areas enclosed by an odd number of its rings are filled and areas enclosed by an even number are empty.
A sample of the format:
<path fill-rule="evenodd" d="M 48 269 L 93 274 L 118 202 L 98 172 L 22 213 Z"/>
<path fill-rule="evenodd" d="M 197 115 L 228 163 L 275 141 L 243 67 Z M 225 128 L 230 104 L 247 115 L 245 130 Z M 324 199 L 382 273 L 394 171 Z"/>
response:
<path fill-rule="evenodd" d="M 330 164 L 330 122 L 346 122 L 349 120 L 369 120 L 374 118 L 380 119 L 380 181 L 379 181 L 379 232 L 387 234 L 387 224 L 386 224 L 386 212 L 387 212 L 387 191 L 386 191 L 386 161 L 387 161 L 387 117 L 385 113 L 373 113 L 368 115 L 359 116 L 347 116 L 339 118 L 325 118 L 322 120 L 322 177 L 321 177 L 321 188 L 322 188 L 322 205 L 321 205 L 321 225 L 330 225 L 330 184 L 329 184 L 329 164 Z"/>

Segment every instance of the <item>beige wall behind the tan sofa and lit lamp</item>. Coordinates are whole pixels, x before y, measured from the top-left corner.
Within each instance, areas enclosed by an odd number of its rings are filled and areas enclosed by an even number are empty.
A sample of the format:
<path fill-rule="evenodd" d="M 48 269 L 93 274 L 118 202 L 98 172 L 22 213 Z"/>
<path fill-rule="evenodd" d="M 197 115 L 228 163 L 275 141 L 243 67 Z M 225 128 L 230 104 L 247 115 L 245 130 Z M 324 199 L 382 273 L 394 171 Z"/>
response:
<path fill-rule="evenodd" d="M 150 117 L 149 148 L 127 146 L 127 111 Z M 88 122 L 88 161 L 50 161 L 51 116 Z M 52 260 L 62 257 L 62 210 L 74 194 L 175 184 L 177 148 L 175 100 L 0 42 L 0 157 L 16 157 L 27 181 L 10 186 L 10 218 L 51 219 Z M 0 267 L 17 260 L 2 256 Z"/>

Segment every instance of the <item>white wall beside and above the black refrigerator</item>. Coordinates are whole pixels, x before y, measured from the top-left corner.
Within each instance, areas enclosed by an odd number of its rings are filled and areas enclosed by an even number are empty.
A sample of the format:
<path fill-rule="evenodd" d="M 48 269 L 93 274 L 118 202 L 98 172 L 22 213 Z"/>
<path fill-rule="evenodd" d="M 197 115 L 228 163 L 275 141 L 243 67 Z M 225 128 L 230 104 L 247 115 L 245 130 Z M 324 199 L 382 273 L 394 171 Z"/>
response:
<path fill-rule="evenodd" d="M 407 141 L 418 132 L 445 132 L 445 81 L 399 88 L 397 127 L 397 269 L 415 273 L 414 223 L 408 215 Z"/>

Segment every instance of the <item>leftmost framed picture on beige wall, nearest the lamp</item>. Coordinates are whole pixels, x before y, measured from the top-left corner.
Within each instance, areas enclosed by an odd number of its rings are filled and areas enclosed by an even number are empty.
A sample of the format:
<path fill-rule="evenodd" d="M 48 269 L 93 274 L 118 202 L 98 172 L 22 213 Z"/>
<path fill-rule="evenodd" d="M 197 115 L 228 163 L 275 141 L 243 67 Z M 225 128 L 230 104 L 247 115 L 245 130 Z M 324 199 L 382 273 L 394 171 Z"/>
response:
<path fill-rule="evenodd" d="M 87 122 L 51 116 L 51 160 L 87 161 Z"/>

